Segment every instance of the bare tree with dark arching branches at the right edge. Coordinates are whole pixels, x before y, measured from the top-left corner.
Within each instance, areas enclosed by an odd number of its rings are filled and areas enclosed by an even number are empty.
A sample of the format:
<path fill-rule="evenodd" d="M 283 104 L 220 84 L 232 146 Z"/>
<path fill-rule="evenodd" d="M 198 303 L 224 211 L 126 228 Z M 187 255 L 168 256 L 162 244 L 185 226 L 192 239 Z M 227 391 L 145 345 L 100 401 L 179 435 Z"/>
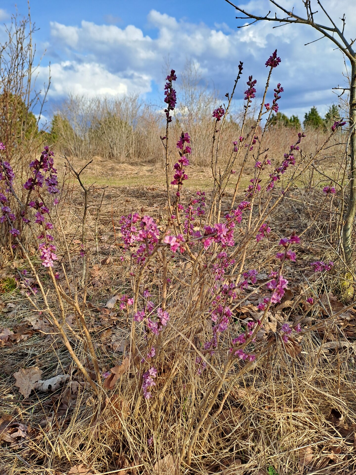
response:
<path fill-rule="evenodd" d="M 225 0 L 227 3 L 232 5 L 237 11 L 242 13 L 244 16 L 236 17 L 237 19 L 252 19 L 253 21 L 249 23 L 252 25 L 257 21 L 274 21 L 280 24 L 287 23 L 297 23 L 302 25 L 310 25 L 315 30 L 321 33 L 321 38 L 328 38 L 332 41 L 337 48 L 345 55 L 345 57 L 351 63 L 351 76 L 349 81 L 349 88 L 342 88 L 345 91 L 349 91 L 349 123 L 350 123 L 350 135 L 349 135 L 349 156 L 350 156 L 350 170 L 349 170 L 349 195 L 347 201 L 347 211 L 344 218 L 343 226 L 343 248 L 345 254 L 345 263 L 346 263 L 346 276 L 347 279 L 351 280 L 350 271 L 354 274 L 354 258 L 351 246 L 352 239 L 352 230 L 353 223 L 356 214 L 356 53 L 353 49 L 353 44 L 356 41 L 355 39 L 350 39 L 349 41 L 345 38 L 345 24 L 346 16 L 345 14 L 340 19 L 341 28 L 337 27 L 336 22 L 329 15 L 327 10 L 323 7 L 320 0 L 316 0 L 315 4 L 324 12 L 328 19 L 328 25 L 322 25 L 315 20 L 315 15 L 318 13 L 318 10 L 312 9 L 312 0 L 301 0 L 304 7 L 306 16 L 305 18 L 296 15 L 293 10 L 289 11 L 283 8 L 274 0 L 269 0 L 279 11 L 281 17 L 277 16 L 277 13 L 274 13 L 274 16 L 270 16 L 271 10 L 264 17 L 260 17 L 250 13 L 237 5 L 234 5 L 230 0 Z M 244 25 L 246 26 L 246 25 Z M 248 26 L 248 25 L 247 25 Z M 238 27 L 242 28 L 242 27 Z M 274 27 L 275 28 L 275 27 Z M 352 280 L 354 280 L 352 278 Z M 350 288 L 351 290 L 351 288 Z"/>

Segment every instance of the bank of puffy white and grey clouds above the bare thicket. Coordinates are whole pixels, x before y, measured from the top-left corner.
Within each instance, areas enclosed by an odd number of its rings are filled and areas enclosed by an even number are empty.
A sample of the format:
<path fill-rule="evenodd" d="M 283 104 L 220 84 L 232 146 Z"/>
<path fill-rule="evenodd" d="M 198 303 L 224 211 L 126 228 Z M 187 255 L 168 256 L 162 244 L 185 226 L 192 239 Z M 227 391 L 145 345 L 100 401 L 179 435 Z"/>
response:
<path fill-rule="evenodd" d="M 282 0 L 282 4 L 290 9 L 298 2 Z M 325 6 L 336 19 L 340 17 L 338 0 L 326 0 Z M 266 14 L 268 7 L 266 0 L 252 0 L 245 6 L 246 10 L 258 14 Z M 353 19 L 351 5 L 343 5 L 343 8 L 348 13 L 348 38 L 356 26 L 356 19 Z M 235 13 L 232 8 L 232 18 Z M 237 64 L 242 60 L 244 81 L 253 74 L 262 88 L 266 76 L 264 62 L 276 48 L 282 63 L 273 72 L 272 85 L 281 82 L 284 86 L 288 107 L 283 107 L 281 99 L 283 111 L 295 113 L 317 105 L 324 112 L 328 104 L 336 101 L 331 88 L 344 81 L 343 57 L 328 39 L 303 46 L 318 38 L 308 26 L 272 28 L 275 25 L 271 22 L 260 22 L 241 29 L 234 28 L 232 23 L 229 26 L 215 24 L 210 28 L 157 10 L 151 10 L 147 20 L 156 30 L 152 36 L 145 35 L 134 25 L 119 28 L 83 20 L 80 26 L 73 27 L 52 22 L 50 30 L 57 53 L 65 57 L 52 65 L 50 94 L 59 97 L 66 92 L 86 95 L 147 93 L 154 83 L 159 87 L 162 85 L 164 57 L 169 57 L 170 66 L 178 73 L 187 60 L 194 60 L 199 64 L 203 80 L 215 85 L 222 95 L 231 89 Z M 242 96 L 244 89 L 241 83 L 237 94 Z"/>

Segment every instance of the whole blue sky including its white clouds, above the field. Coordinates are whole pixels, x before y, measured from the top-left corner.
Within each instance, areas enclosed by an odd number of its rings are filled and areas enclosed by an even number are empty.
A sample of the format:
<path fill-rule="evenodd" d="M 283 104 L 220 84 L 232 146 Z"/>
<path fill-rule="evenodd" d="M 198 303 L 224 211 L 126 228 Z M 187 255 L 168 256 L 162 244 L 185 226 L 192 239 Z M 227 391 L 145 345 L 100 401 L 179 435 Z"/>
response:
<path fill-rule="evenodd" d="M 15 3 L 19 13 L 27 13 L 27 0 L 2 0 L 2 23 L 15 12 Z M 298 10 L 301 0 L 281 4 Z M 351 37 L 356 29 L 354 0 L 324 0 L 324 5 L 336 19 L 343 11 L 349 13 L 346 33 L 350 31 Z M 35 35 L 38 56 L 46 50 L 38 69 L 40 84 L 51 62 L 48 117 L 68 93 L 90 97 L 139 93 L 159 103 L 167 60 L 178 78 L 187 61 L 194 61 L 202 84 L 218 90 L 222 99 L 232 88 L 238 61 L 243 61 L 244 81 L 236 91 L 241 98 L 249 74 L 261 92 L 264 62 L 277 48 L 282 62 L 273 72 L 272 85 L 281 82 L 285 90 L 280 110 L 300 118 L 312 105 L 325 113 L 337 102 L 331 88 L 345 81 L 343 57 L 331 42 L 324 39 L 303 46 L 318 38 L 311 28 L 272 29 L 264 22 L 237 29 L 242 20 L 235 19 L 236 11 L 224 0 L 32 0 L 30 6 L 32 21 L 40 28 Z M 268 0 L 247 3 L 259 14 L 271 7 Z M 2 34 L 0 30 L 0 38 Z"/>

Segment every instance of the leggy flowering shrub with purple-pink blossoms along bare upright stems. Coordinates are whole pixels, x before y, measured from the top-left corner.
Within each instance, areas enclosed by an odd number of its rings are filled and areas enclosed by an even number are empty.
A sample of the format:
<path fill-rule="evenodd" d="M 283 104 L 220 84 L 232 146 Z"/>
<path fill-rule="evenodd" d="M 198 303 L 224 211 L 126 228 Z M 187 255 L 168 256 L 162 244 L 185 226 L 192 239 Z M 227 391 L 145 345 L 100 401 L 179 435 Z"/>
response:
<path fill-rule="evenodd" d="M 279 109 L 278 101 L 283 92 L 281 83 L 274 88 L 272 102 L 268 103 L 266 100 L 272 72 L 280 63 L 281 58 L 277 57 L 277 50 L 265 62 L 269 71 L 263 100 L 257 117 L 249 127 L 246 126 L 247 112 L 257 94 L 257 81 L 253 80 L 252 76 L 248 77 L 246 82 L 248 88 L 244 92 L 243 123 L 241 130 L 236 134 L 238 135 L 235 137 L 236 140 L 233 143 L 229 142 L 231 157 L 224 163 L 219 155 L 219 143 L 223 137 L 225 118 L 229 114 L 236 83 L 243 73 L 240 62 L 234 90 L 231 95 L 226 94 L 228 103 L 224 104 L 224 107 L 220 105 L 212 112 L 211 120 L 214 124 L 211 145 L 212 190 L 210 192 L 194 190 L 189 196 L 186 186 L 189 183 L 189 157 L 192 148 L 194 149 L 194 143 L 191 141 L 189 131 L 182 131 L 179 136 L 174 137 L 172 148 L 169 142 L 169 124 L 172 121 L 170 113 L 177 103 L 176 91 L 173 89 L 177 76 L 172 69 L 166 77 L 164 91 L 166 136 L 161 137 L 166 155 L 167 220 L 162 225 L 161 221 L 158 222 L 143 209 L 140 213 L 134 211 L 125 213 L 119 220 L 122 239 L 121 263 L 124 265 L 130 262 L 128 279 L 131 290 L 126 290 L 126 293 L 117 298 L 119 311 L 126 316 L 131 326 L 128 337 L 130 349 L 127 349 L 128 354 L 124 357 L 125 361 L 128 361 L 128 373 L 137 378 L 138 384 L 135 383 L 135 387 L 140 389 L 140 398 L 148 405 L 152 403 L 150 399 L 157 402 L 157 395 L 161 389 L 161 376 L 167 370 L 165 369 L 167 364 L 160 359 L 160 356 L 166 351 L 166 341 L 178 339 L 177 335 L 189 342 L 185 351 L 189 357 L 191 356 L 191 366 L 194 366 L 197 378 L 201 380 L 214 378 L 204 395 L 201 407 L 187 424 L 182 457 L 187 451 L 188 464 L 191 461 L 195 440 L 199 437 L 199 431 L 219 397 L 219 391 L 227 375 L 242 374 L 243 371 L 253 368 L 256 361 L 269 351 L 272 345 L 281 345 L 292 357 L 301 351 L 296 341 L 296 338 L 300 340 L 298 337 L 302 331 L 300 323 L 278 322 L 275 332 L 268 333 L 266 330 L 269 315 L 278 305 L 283 305 L 287 298 L 288 273 L 298 259 L 300 245 L 300 238 L 296 232 L 289 232 L 287 236 L 281 235 L 273 216 L 288 195 L 298 173 L 301 173 L 300 170 L 307 168 L 309 163 L 315 160 L 327 142 L 312 157 L 307 157 L 300 149 L 305 134 L 299 131 L 296 132 L 293 143 L 286 144 L 283 156 L 269 158 L 268 149 L 263 145 L 267 129 L 262 128 L 261 123 L 263 115 L 266 114 L 268 123 L 272 113 Z M 342 126 L 342 123 L 334 124 L 332 133 L 335 133 L 338 126 Z M 0 144 L 0 150 L 4 150 L 3 144 Z M 239 173 L 236 173 L 234 165 L 238 159 L 241 159 L 241 168 Z M 246 190 L 241 191 L 239 187 L 247 161 L 250 161 L 253 172 Z M 30 285 L 28 282 L 29 295 L 33 296 L 40 289 L 43 305 L 61 333 L 68 351 L 93 390 L 98 393 L 103 374 L 105 381 L 108 381 L 109 377 L 111 380 L 112 374 L 99 371 L 95 347 L 91 343 L 91 336 L 85 323 L 86 284 L 83 286 L 84 302 L 79 304 L 80 294 L 77 290 L 75 272 L 72 273 L 74 290 L 69 289 L 68 293 L 64 292 L 61 284 L 57 282 L 58 272 L 54 273 L 56 261 L 59 261 L 58 256 L 61 253 L 57 251 L 54 232 L 58 231 L 58 228 L 51 219 L 51 213 L 56 211 L 59 195 L 53 152 L 45 147 L 40 157 L 30 163 L 29 169 L 30 177 L 23 185 L 26 199 L 20 202 L 14 190 L 15 177 L 12 168 L 9 162 L 1 159 L 0 180 L 4 187 L 0 194 L 2 205 L 0 221 L 8 227 L 13 246 L 22 247 L 21 232 L 19 227 L 15 226 L 17 222 L 22 221 L 23 226 L 28 226 L 31 230 L 36 239 L 42 269 L 47 270 L 51 277 L 51 285 L 56 291 L 62 322 L 65 322 L 66 317 L 64 302 L 71 305 L 75 315 L 79 317 L 94 364 L 96 383 L 76 357 L 63 330 L 63 324 L 59 323 L 50 309 L 38 273 L 37 284 Z M 283 175 L 284 183 L 281 190 L 278 185 Z M 229 197 L 226 196 L 225 190 L 232 180 L 234 180 L 234 193 Z M 46 194 L 41 191 L 43 189 L 46 190 Z M 329 186 L 324 188 L 324 193 L 334 195 L 336 190 Z M 10 197 L 19 201 L 18 217 L 11 211 Z M 61 227 L 59 218 L 57 225 Z M 84 246 L 84 243 L 82 245 Z M 259 256 L 262 255 L 262 249 L 266 248 L 268 256 L 263 261 Z M 273 249 L 272 254 L 270 249 Z M 70 269 L 72 262 L 68 247 L 63 254 L 67 255 L 66 266 L 62 265 L 63 273 L 66 274 L 66 268 Z M 85 262 L 89 260 L 84 247 L 80 256 Z M 29 258 L 28 262 L 31 270 L 36 273 Z M 183 285 L 180 274 L 174 272 L 175 266 L 180 264 L 184 272 L 187 272 L 182 277 L 189 295 L 184 297 L 186 299 L 184 304 L 177 298 L 174 299 L 170 292 L 174 285 L 178 283 Z M 315 272 L 328 271 L 332 266 L 332 262 L 326 264 L 318 261 L 310 264 Z M 21 278 L 26 283 L 26 275 L 22 275 Z M 150 285 L 150 290 L 146 288 L 147 285 Z M 69 285 L 67 286 L 69 288 Z M 253 316 L 243 320 L 239 316 L 238 308 L 251 297 L 255 302 Z M 312 304 L 309 300 L 307 302 Z M 172 329 L 178 325 L 178 313 L 183 314 L 182 326 L 185 325 L 184 328 L 191 331 L 188 336 L 181 330 L 177 330 L 172 336 Z M 293 352 L 290 348 L 293 348 Z M 175 355 L 172 360 L 175 358 L 178 356 Z M 125 367 L 123 363 L 122 366 Z M 173 370 L 169 374 L 172 375 Z M 137 407 L 140 407 L 140 399 Z M 193 426 L 194 431 L 191 434 Z M 188 437 L 191 437 L 189 445 Z"/>

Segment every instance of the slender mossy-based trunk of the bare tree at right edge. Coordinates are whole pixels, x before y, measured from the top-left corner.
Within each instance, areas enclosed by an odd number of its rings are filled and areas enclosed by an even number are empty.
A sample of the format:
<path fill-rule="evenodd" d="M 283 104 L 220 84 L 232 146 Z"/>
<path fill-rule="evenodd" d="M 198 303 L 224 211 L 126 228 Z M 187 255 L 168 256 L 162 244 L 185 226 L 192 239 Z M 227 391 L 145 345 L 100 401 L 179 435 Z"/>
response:
<path fill-rule="evenodd" d="M 352 252 L 352 231 L 356 215 L 356 60 L 351 63 L 350 81 L 350 185 L 347 203 L 347 212 L 343 227 L 343 247 L 345 253 L 346 269 L 343 291 L 345 296 L 353 296 L 354 258 Z M 347 282 L 346 282 L 347 281 Z"/>

